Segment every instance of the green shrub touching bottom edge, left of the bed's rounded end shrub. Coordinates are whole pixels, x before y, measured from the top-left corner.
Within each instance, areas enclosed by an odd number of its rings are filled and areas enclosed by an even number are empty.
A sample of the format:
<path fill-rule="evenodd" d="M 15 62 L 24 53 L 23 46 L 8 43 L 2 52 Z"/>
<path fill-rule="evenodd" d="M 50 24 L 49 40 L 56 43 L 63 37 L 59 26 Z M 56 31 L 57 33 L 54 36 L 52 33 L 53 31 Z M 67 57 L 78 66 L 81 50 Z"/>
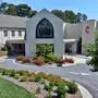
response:
<path fill-rule="evenodd" d="M 65 93 L 66 93 L 65 86 L 60 85 L 57 89 L 57 93 L 58 93 L 58 98 L 65 98 Z"/>

